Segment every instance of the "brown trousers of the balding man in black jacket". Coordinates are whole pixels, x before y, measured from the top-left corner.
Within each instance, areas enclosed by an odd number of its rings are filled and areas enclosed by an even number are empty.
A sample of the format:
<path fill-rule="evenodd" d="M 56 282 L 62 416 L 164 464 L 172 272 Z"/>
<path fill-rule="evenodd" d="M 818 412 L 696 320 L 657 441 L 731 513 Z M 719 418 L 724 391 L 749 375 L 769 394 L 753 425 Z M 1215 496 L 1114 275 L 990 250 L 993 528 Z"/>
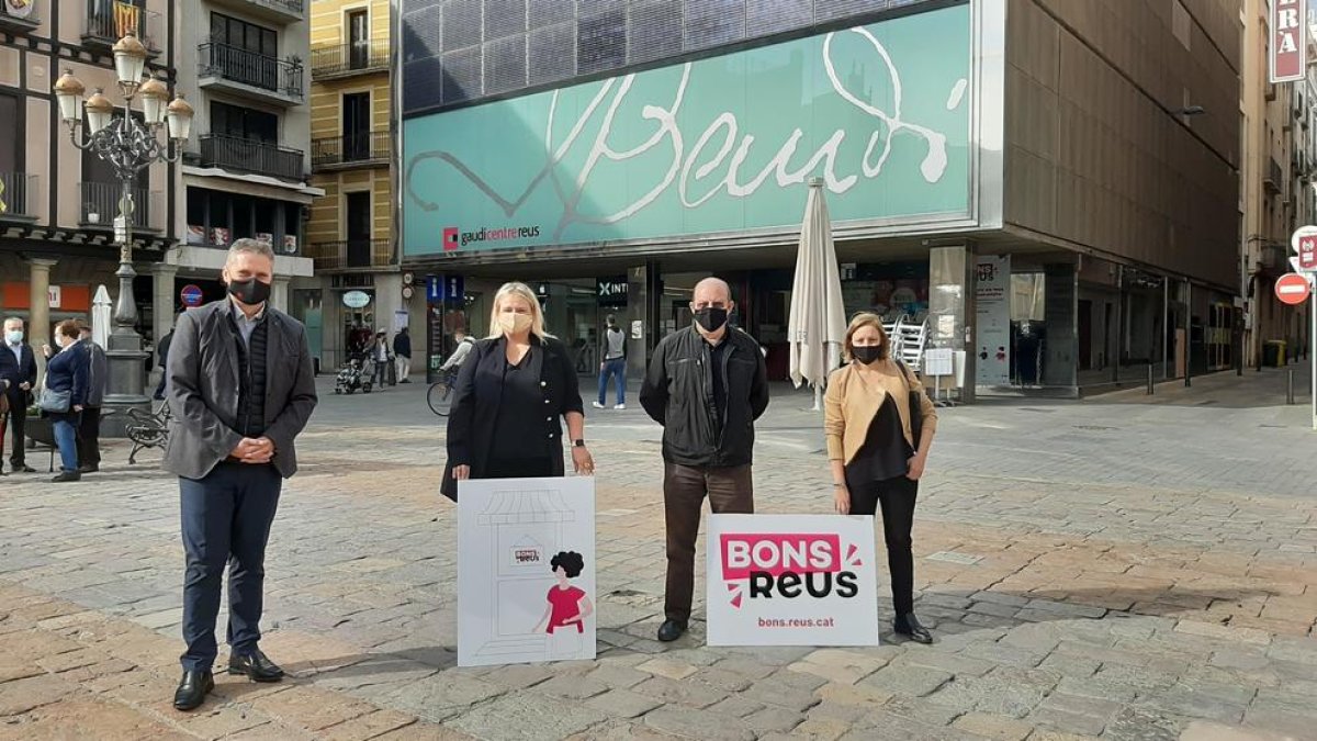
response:
<path fill-rule="evenodd" d="M 668 620 L 690 620 L 690 600 L 695 589 L 695 539 L 699 537 L 699 510 L 705 496 L 714 514 L 752 514 L 755 484 L 749 465 L 695 468 L 664 463 L 662 500 L 668 525 L 664 613 Z"/>

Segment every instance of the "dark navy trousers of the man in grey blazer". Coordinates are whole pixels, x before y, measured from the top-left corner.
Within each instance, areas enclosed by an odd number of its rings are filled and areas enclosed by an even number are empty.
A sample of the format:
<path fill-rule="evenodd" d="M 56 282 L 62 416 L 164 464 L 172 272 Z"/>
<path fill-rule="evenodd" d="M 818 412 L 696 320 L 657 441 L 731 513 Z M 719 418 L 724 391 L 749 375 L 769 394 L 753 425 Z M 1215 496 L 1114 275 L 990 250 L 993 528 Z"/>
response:
<path fill-rule="evenodd" d="M 183 519 L 184 670 L 208 670 L 219 647 L 224 567 L 229 571 L 228 643 L 234 655 L 252 653 L 261 639 L 265 599 L 265 546 L 279 508 L 283 477 L 273 465 L 224 461 L 204 479 L 179 479 Z"/>

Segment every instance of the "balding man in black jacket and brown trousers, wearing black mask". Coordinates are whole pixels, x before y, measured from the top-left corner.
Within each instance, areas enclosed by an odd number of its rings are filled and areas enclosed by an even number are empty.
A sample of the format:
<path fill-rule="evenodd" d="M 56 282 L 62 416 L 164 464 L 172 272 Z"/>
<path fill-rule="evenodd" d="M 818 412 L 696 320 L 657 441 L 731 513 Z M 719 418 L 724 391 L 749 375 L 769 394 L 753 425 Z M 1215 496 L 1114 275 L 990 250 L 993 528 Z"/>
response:
<path fill-rule="evenodd" d="M 705 497 L 715 514 L 755 512 L 751 458 L 755 421 L 768 409 L 768 369 L 759 343 L 727 324 L 735 306 L 726 282 L 701 281 L 690 302 L 694 327 L 658 343 L 640 386 L 640 405 L 664 426 L 668 587 L 660 641 L 676 641 L 690 621 Z"/>

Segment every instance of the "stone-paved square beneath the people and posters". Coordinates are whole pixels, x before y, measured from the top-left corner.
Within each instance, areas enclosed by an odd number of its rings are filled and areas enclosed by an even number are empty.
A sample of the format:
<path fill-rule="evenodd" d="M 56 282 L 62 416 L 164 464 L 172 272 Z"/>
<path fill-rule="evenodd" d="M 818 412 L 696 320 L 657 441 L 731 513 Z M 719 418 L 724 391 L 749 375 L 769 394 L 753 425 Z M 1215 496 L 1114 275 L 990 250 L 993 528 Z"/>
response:
<path fill-rule="evenodd" d="M 80 484 L 0 479 L 0 740 L 1317 738 L 1317 463 L 1283 381 L 943 410 L 915 526 L 938 642 L 872 650 L 710 649 L 702 605 L 656 642 L 660 431 L 593 413 L 599 658 L 495 670 L 456 667 L 425 386 L 328 394 L 267 564 L 262 645 L 295 679 L 220 678 L 194 715 L 169 707 L 176 484 L 115 444 Z M 807 405 L 760 425 L 761 512 L 827 512 Z"/>

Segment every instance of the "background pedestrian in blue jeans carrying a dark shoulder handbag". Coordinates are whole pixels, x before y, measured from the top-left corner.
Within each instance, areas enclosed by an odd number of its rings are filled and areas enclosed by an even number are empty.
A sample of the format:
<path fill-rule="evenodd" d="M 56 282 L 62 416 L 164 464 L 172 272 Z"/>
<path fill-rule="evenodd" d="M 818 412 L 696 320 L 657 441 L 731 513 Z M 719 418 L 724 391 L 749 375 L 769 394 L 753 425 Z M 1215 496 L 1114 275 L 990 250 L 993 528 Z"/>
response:
<path fill-rule="evenodd" d="M 50 418 L 59 447 L 59 475 L 53 481 L 78 481 L 78 425 L 87 405 L 87 349 L 78 341 L 78 322 L 61 322 L 55 327 L 55 351 L 42 347 L 46 355 L 46 378 L 41 390 L 41 411 Z"/>

